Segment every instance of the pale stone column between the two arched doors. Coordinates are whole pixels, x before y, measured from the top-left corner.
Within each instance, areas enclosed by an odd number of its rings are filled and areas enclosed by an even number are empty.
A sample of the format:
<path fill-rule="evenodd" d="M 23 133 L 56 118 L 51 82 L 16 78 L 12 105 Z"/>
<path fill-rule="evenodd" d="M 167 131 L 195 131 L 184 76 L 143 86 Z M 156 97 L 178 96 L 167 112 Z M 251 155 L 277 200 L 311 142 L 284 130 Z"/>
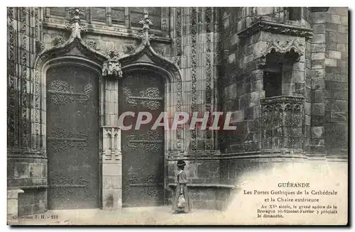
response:
<path fill-rule="evenodd" d="M 122 158 L 119 120 L 119 78 L 122 77 L 118 54 L 109 51 L 104 62 L 104 125 L 102 125 L 102 209 L 121 209 Z"/>

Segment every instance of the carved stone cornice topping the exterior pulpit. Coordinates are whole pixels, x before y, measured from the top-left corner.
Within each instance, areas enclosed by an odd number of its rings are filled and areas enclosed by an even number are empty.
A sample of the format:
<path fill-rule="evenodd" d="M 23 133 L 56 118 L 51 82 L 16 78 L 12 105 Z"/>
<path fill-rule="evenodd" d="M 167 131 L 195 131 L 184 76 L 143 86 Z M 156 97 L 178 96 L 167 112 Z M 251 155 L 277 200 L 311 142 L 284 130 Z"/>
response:
<path fill-rule="evenodd" d="M 253 23 L 248 28 L 237 33 L 237 35 L 239 38 L 246 38 L 246 37 L 250 37 L 254 33 L 258 33 L 258 31 L 267 31 L 271 33 L 293 35 L 298 37 L 304 37 L 307 39 L 312 38 L 313 35 L 312 28 L 291 26 L 283 23 L 273 23 L 273 22 L 262 21 L 262 20 Z"/>

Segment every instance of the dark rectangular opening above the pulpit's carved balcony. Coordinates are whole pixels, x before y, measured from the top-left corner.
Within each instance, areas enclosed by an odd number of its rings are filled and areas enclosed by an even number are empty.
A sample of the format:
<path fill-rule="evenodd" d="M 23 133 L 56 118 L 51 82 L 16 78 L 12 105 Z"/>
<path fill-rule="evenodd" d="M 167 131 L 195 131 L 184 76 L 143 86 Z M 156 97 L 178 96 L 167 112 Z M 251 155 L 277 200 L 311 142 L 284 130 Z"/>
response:
<path fill-rule="evenodd" d="M 280 96 L 282 94 L 282 73 L 264 72 L 263 89 L 265 90 L 265 97 Z"/>

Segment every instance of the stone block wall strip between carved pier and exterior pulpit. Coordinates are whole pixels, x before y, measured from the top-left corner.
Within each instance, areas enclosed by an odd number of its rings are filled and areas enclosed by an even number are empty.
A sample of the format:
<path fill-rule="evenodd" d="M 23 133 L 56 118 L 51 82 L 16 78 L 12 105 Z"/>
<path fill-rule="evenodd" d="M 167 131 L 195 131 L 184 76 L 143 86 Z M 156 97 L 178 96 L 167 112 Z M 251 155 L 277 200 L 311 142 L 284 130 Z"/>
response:
<path fill-rule="evenodd" d="M 232 120 L 236 126 L 236 131 L 220 133 L 220 149 L 224 153 L 256 151 L 261 144 L 259 99 L 263 98 L 263 73 L 257 70 L 256 62 L 253 62 L 261 33 L 243 40 L 238 38 L 238 22 L 244 21 L 244 13 L 241 8 L 228 8 L 224 13 L 221 12 L 221 107 L 222 111 L 234 112 Z"/>

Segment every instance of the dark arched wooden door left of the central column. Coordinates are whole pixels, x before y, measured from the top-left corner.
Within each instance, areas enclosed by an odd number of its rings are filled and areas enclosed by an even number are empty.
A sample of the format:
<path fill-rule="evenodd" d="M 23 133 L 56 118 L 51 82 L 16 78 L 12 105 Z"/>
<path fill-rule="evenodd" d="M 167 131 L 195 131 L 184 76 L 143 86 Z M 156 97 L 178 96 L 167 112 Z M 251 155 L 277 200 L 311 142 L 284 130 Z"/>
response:
<path fill-rule="evenodd" d="M 48 208 L 99 207 L 99 84 L 86 67 L 47 72 Z"/>

